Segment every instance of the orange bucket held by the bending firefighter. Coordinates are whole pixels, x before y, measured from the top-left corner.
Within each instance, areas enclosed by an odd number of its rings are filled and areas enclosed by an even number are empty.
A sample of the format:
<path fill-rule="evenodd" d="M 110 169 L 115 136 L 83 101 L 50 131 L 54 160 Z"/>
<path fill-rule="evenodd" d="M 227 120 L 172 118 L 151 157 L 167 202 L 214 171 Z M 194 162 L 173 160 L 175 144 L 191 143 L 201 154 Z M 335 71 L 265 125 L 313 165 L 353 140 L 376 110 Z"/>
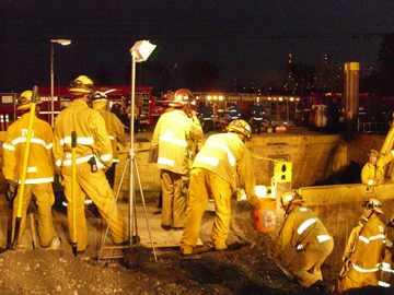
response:
<path fill-rule="evenodd" d="M 253 227 L 257 232 L 273 232 L 276 229 L 276 199 L 259 198 L 262 205 L 259 210 L 253 209 Z"/>

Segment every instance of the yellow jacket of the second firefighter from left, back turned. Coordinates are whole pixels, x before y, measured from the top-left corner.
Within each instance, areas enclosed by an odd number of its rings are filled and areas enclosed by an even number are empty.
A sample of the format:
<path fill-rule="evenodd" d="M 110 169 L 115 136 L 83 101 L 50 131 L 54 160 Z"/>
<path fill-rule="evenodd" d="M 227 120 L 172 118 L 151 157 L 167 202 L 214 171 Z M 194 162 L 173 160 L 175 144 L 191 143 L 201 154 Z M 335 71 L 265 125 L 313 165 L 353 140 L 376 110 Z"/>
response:
<path fill-rule="evenodd" d="M 77 132 L 77 165 L 89 162 L 93 156 L 99 169 L 111 167 L 113 148 L 103 117 L 85 102 L 74 99 L 56 117 L 54 155 L 57 168 L 71 166 L 72 131 Z"/>

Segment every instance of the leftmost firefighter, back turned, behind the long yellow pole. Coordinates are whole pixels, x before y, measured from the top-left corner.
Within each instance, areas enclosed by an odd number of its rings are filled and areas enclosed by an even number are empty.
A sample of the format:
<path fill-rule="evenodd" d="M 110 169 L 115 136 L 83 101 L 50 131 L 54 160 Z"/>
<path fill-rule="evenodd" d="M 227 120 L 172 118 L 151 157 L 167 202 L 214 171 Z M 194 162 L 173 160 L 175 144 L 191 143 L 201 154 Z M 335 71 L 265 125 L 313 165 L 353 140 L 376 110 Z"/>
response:
<path fill-rule="evenodd" d="M 21 184 L 22 162 L 26 145 L 30 109 L 32 106 L 32 91 L 25 91 L 18 99 L 18 109 L 24 114 L 21 119 L 13 122 L 7 130 L 3 148 L 3 174 L 11 186 Z M 55 202 L 55 194 L 51 182 L 54 181 L 54 158 L 53 158 L 53 130 L 50 126 L 37 118 L 39 113 L 39 96 L 36 97 L 36 114 L 33 117 L 32 140 L 30 144 L 27 174 L 25 178 L 24 196 L 13 200 L 13 216 L 18 213 L 19 199 L 23 198 L 20 233 L 26 222 L 26 211 L 34 194 L 38 208 L 38 234 L 43 248 L 51 246 L 56 240 L 56 234 L 51 216 L 51 206 Z M 13 220 L 13 228 L 15 219 Z M 14 233 L 13 233 L 14 234 Z M 20 235 L 20 237 L 22 236 Z"/>

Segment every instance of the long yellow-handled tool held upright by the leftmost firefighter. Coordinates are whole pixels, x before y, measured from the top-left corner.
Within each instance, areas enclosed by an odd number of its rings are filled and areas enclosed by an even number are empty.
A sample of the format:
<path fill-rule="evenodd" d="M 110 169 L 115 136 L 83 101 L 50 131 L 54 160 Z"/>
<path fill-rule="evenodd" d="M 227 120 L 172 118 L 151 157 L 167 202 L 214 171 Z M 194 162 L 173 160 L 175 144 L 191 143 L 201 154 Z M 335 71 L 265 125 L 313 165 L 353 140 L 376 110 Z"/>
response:
<path fill-rule="evenodd" d="M 27 137 L 26 137 L 25 152 L 24 152 L 24 156 L 23 156 L 21 188 L 20 188 L 21 193 L 20 193 L 20 198 L 19 198 L 19 202 L 18 202 L 15 231 L 14 231 L 13 243 L 12 243 L 12 249 L 13 250 L 15 250 L 15 248 L 16 248 L 16 243 L 18 243 L 19 234 L 20 234 L 20 229 L 21 229 L 23 194 L 24 194 L 24 188 L 25 188 L 25 182 L 26 182 L 28 153 L 30 153 L 30 144 L 31 144 L 31 140 L 32 140 L 33 119 L 34 119 L 34 116 L 35 116 L 37 94 L 38 94 L 38 87 L 36 85 L 34 85 L 33 86 L 33 92 L 32 92 L 31 110 L 30 110 L 30 116 L 28 116 L 28 126 L 27 126 Z"/>

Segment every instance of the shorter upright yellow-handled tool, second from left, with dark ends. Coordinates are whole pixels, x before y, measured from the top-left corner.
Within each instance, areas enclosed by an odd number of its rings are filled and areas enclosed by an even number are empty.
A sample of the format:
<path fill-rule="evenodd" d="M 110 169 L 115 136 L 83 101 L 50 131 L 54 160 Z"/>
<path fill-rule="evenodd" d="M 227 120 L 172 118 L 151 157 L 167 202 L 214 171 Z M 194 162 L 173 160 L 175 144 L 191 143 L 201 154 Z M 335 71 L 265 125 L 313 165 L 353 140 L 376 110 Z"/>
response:
<path fill-rule="evenodd" d="M 71 132 L 72 253 L 77 257 L 77 132 Z"/>

